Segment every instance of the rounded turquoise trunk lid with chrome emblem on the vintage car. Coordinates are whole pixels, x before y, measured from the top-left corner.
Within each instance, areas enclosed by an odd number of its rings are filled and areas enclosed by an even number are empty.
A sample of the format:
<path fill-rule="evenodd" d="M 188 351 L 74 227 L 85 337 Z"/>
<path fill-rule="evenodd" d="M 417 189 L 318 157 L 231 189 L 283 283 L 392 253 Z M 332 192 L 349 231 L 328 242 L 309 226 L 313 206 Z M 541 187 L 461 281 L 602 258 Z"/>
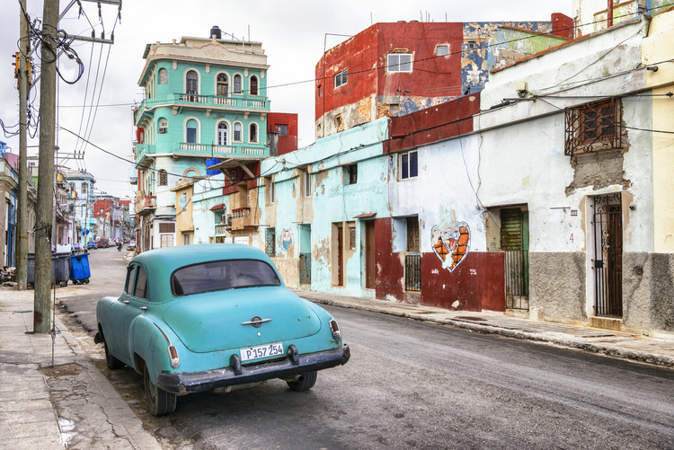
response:
<path fill-rule="evenodd" d="M 310 303 L 285 287 L 246 287 L 185 297 L 166 309 L 164 321 L 185 347 L 200 353 L 294 340 L 321 329 Z"/>

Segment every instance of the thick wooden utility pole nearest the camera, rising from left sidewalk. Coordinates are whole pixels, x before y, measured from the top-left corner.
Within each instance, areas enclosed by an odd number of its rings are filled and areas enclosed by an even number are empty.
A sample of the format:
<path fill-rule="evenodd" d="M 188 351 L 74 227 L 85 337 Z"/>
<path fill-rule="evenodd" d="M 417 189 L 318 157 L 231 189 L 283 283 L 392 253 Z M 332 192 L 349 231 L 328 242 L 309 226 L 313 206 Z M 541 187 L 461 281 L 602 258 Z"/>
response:
<path fill-rule="evenodd" d="M 54 208 L 54 151 L 56 146 L 56 65 L 58 59 L 58 0 L 45 0 L 42 16 L 40 78 L 40 166 L 35 225 L 35 296 L 33 332 L 51 331 L 51 228 Z"/>

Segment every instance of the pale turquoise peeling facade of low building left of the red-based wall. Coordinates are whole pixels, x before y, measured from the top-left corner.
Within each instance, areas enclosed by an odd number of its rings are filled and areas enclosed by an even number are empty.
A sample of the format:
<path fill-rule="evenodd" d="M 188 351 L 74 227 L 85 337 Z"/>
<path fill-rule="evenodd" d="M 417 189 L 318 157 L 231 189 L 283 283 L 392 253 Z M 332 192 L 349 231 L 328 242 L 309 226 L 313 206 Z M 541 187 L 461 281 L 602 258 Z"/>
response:
<path fill-rule="evenodd" d="M 300 224 L 302 217 L 297 209 L 297 196 L 304 195 L 300 189 L 297 168 L 311 167 L 314 220 L 311 221 L 312 283 L 311 288 L 324 292 L 363 295 L 363 259 L 361 244 L 364 241 L 362 220 L 355 219 L 364 213 L 387 216 L 386 179 L 389 156 L 383 154 L 382 141 L 387 137 L 387 119 L 350 128 L 339 134 L 324 137 L 314 145 L 298 149 L 290 154 L 267 158 L 262 162 L 261 172 L 274 176 L 276 182 L 276 216 L 262 216 L 262 223 L 275 223 L 277 243 L 279 236 L 288 230 L 293 237 L 292 251 L 279 252 L 277 256 L 297 258 L 300 248 Z M 358 181 L 345 182 L 345 165 L 358 164 Z M 348 177 L 346 177 L 348 180 Z M 264 204 L 264 192 L 260 190 L 260 202 Z M 356 250 L 346 261 L 344 287 L 333 287 L 333 251 L 331 241 L 333 224 L 353 222 L 356 225 Z M 346 228 L 345 228 L 346 230 Z M 261 239 L 264 230 L 261 230 Z M 291 284 L 287 280 L 288 284 Z"/>

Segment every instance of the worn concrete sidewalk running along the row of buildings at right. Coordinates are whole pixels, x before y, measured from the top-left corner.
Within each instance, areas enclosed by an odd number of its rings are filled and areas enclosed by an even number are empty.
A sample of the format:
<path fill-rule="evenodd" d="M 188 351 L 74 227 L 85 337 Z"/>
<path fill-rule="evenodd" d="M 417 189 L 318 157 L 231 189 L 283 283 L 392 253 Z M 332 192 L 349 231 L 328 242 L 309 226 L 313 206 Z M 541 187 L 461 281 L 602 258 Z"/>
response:
<path fill-rule="evenodd" d="M 317 304 L 329 304 L 374 313 L 386 313 L 453 325 L 468 330 L 500 334 L 510 338 L 537 340 L 621 357 L 658 366 L 674 367 L 674 334 L 653 337 L 639 333 L 609 331 L 559 322 L 537 322 L 494 312 L 450 311 L 418 304 L 401 304 L 368 297 L 339 296 L 292 289 L 298 296 Z"/>

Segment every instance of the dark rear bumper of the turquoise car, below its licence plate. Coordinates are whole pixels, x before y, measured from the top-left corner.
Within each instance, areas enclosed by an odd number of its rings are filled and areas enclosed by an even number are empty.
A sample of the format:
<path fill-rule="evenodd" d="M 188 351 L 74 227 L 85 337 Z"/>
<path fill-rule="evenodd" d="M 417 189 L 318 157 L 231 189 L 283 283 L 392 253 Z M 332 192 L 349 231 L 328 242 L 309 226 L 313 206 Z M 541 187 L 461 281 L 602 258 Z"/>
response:
<path fill-rule="evenodd" d="M 288 356 L 280 361 L 254 366 L 241 366 L 240 363 L 236 364 L 233 361 L 233 366 L 205 372 L 161 373 L 157 375 L 157 384 L 169 393 L 200 393 L 217 387 L 256 383 L 271 378 L 284 378 L 313 370 L 344 365 L 349 361 L 350 349 L 348 345 L 344 345 L 337 349 L 305 355 L 296 354 L 295 358 L 296 361 L 293 361 L 293 357 Z"/>

